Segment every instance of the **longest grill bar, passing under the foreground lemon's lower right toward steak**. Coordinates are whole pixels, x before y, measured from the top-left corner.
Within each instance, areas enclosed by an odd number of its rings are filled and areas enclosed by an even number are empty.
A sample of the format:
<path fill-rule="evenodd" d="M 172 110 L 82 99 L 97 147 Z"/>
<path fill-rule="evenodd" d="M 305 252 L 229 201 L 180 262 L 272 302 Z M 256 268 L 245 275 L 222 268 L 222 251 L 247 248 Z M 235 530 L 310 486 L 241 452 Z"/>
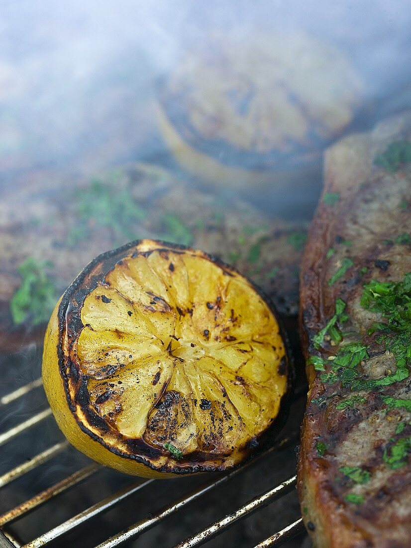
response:
<path fill-rule="evenodd" d="M 188 495 L 182 496 L 175 503 L 169 506 L 163 507 L 163 509 L 154 513 L 152 516 L 135 523 L 134 525 L 132 525 L 128 529 L 124 529 L 117 535 L 113 535 L 108 540 L 99 544 L 99 546 L 96 546 L 96 548 L 113 548 L 114 546 L 119 546 L 120 544 L 123 544 L 126 540 L 129 540 L 134 536 L 142 534 L 148 529 L 156 526 L 160 521 L 163 521 L 164 518 L 170 516 L 172 513 L 180 510 L 187 504 L 192 503 L 194 500 L 200 498 L 200 496 L 216 488 L 217 486 L 227 482 L 229 479 L 238 475 L 240 472 L 243 472 L 249 466 L 255 464 L 257 460 L 261 459 L 263 456 L 267 456 L 269 453 L 271 453 L 275 449 L 279 449 L 287 446 L 293 441 L 293 439 L 296 439 L 296 437 L 297 437 L 297 433 L 293 432 L 290 436 L 283 438 L 280 442 L 270 447 L 267 451 L 259 454 L 257 458 L 254 458 L 253 460 L 248 461 L 248 463 L 244 464 L 243 466 L 240 466 L 239 468 L 234 469 L 233 471 L 225 474 L 224 476 L 220 476 L 216 480 L 211 479 L 210 481 L 203 483 L 200 487 L 192 490 L 192 492 L 190 492 Z M 32 547 L 30 546 L 30 548 Z"/>

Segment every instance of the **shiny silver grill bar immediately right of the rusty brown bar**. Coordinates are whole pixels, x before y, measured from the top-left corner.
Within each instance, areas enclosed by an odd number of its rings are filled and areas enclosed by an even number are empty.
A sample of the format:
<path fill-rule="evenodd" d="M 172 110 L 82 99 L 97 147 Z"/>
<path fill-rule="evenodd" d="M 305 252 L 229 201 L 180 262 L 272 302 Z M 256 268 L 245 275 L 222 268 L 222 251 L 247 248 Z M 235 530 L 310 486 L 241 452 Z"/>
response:
<path fill-rule="evenodd" d="M 45 544 L 50 543 L 52 540 L 59 538 L 59 536 L 68 533 L 74 528 L 78 527 L 80 524 L 89 520 L 90 518 L 99 515 L 102 512 L 110 509 L 115 504 L 118 504 L 121 500 L 124 500 L 128 496 L 136 493 L 138 490 L 146 487 L 149 483 L 152 483 L 154 479 L 147 479 L 143 483 L 133 484 L 130 487 L 121 489 L 112 496 L 108 496 L 106 499 L 101 500 L 99 503 L 96 503 L 90 506 L 88 509 L 83 512 L 78 513 L 76 516 L 70 518 L 70 520 L 61 523 L 54 529 L 50 529 L 47 533 L 40 535 L 37 539 L 32 540 L 30 543 L 24 545 L 24 548 L 40 548 Z"/>

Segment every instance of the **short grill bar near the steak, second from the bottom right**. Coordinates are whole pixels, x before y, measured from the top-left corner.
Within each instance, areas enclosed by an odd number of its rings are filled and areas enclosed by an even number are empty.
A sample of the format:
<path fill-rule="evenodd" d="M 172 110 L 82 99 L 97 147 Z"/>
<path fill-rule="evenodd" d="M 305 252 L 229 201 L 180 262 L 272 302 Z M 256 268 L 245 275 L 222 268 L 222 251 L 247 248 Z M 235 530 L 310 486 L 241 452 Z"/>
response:
<path fill-rule="evenodd" d="M 260 508 L 273 503 L 276 499 L 279 499 L 281 496 L 289 493 L 296 485 L 296 482 L 296 476 L 286 479 L 286 481 L 280 483 L 279 486 L 269 489 L 262 495 L 250 500 L 247 504 L 236 510 L 234 513 L 228 514 L 223 517 L 222 520 L 216 521 L 210 525 L 210 527 L 203 529 L 200 533 L 190 536 L 182 543 L 177 544 L 175 548 L 193 548 L 194 546 L 200 546 L 201 544 L 215 538 L 215 536 L 222 533 L 225 529 L 234 525 L 236 521 L 241 520 L 245 516 L 256 512 Z"/>

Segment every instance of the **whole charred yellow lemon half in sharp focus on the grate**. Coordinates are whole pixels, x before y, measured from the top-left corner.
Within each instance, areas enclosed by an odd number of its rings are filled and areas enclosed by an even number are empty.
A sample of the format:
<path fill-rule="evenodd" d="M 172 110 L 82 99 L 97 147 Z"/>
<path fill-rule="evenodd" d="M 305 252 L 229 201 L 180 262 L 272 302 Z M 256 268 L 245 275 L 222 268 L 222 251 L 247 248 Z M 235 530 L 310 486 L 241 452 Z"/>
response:
<path fill-rule="evenodd" d="M 63 294 L 43 384 L 77 449 L 166 477 L 256 452 L 275 431 L 289 366 L 251 282 L 201 251 L 142 240 L 97 257 Z"/>

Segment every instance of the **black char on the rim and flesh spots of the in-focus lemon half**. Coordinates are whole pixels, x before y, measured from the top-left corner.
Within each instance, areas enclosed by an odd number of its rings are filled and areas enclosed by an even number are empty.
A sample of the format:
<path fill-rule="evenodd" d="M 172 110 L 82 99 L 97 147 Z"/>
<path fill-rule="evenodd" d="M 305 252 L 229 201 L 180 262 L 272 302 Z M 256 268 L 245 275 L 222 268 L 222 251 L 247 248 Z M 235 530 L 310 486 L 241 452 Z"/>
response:
<path fill-rule="evenodd" d="M 121 432 L 115 431 L 113 434 L 113 430 L 109 428 L 109 424 L 107 420 L 103 419 L 98 413 L 96 413 L 96 403 L 104 403 L 103 401 L 97 401 L 97 398 L 94 402 L 94 405 L 90 401 L 90 393 L 88 391 L 88 380 L 89 376 L 81 373 L 79 370 L 79 363 L 77 360 L 76 352 L 72 352 L 71 349 L 74 347 L 74 341 L 76 341 L 79 338 L 80 333 L 82 332 L 82 329 L 84 328 L 84 325 L 82 323 L 82 320 L 80 319 L 80 312 L 82 310 L 84 300 L 85 298 L 94 290 L 99 284 L 107 284 L 108 282 L 105 279 L 105 275 L 111 270 L 113 270 L 114 266 L 116 264 L 121 263 L 121 261 L 126 257 L 130 256 L 130 250 L 137 247 L 138 244 L 140 244 L 141 241 L 134 241 L 130 242 L 129 244 L 126 244 L 125 246 L 112 250 L 107 253 L 103 253 L 100 256 L 98 256 L 96 259 L 91 261 L 91 263 L 88 265 L 88 267 L 78 276 L 78 278 L 73 282 L 73 284 L 70 286 L 70 288 L 67 289 L 65 294 L 63 295 L 63 298 L 61 300 L 58 316 L 59 316 L 59 345 L 57 347 L 57 352 L 59 355 L 59 369 L 60 374 L 63 378 L 63 384 L 65 386 L 65 392 L 67 396 L 68 405 L 71 409 L 71 412 L 73 413 L 74 417 L 76 418 L 77 424 L 79 425 L 80 429 L 82 429 L 83 432 L 85 432 L 87 435 L 89 435 L 92 439 L 95 439 L 95 441 L 98 441 L 103 446 L 107 447 L 111 452 L 118 454 L 120 456 L 123 456 L 125 458 L 134 459 L 140 463 L 143 463 L 144 465 L 149 466 L 153 470 L 157 470 L 159 472 L 172 472 L 172 473 L 194 473 L 194 472 L 211 472 L 211 471 L 223 471 L 227 469 L 228 466 L 226 465 L 214 465 L 210 464 L 210 454 L 207 454 L 206 452 L 201 452 L 199 450 L 196 450 L 192 453 L 180 456 L 178 455 L 178 458 L 175 460 L 178 461 L 175 463 L 175 465 L 167 463 L 166 465 L 156 465 L 156 461 L 160 459 L 160 457 L 164 457 L 164 449 L 159 447 L 154 447 L 152 444 L 147 443 L 146 439 L 150 438 L 150 430 L 153 430 L 153 433 L 157 434 L 157 439 L 155 441 L 161 442 L 159 431 L 158 431 L 158 424 L 154 424 L 155 421 L 159 420 L 161 418 L 165 418 L 167 420 L 167 412 L 173 408 L 175 405 L 181 403 L 181 399 L 183 398 L 182 395 L 180 395 L 177 392 L 167 391 L 165 392 L 166 386 L 160 386 L 160 390 L 162 390 L 162 396 L 158 398 L 157 403 L 155 404 L 155 408 L 157 409 L 157 414 L 154 415 L 154 417 L 151 419 L 152 424 L 147 425 L 147 431 L 146 434 L 143 437 L 139 438 L 130 438 L 128 436 L 124 436 Z M 156 250 L 159 251 L 160 255 L 164 258 L 168 259 L 167 254 L 170 253 L 170 251 L 173 254 L 183 253 L 187 250 L 190 251 L 190 248 L 186 246 L 178 246 L 177 244 L 167 244 L 165 242 L 157 242 L 159 246 L 164 246 L 164 248 L 157 248 Z M 144 255 L 148 256 L 149 254 L 153 253 L 153 250 L 145 251 L 137 251 L 134 254 L 132 254 L 132 257 L 137 257 L 138 255 Z M 238 273 L 233 267 L 228 266 L 224 264 L 222 261 L 219 261 L 216 258 L 213 258 L 210 255 L 207 255 L 205 253 L 202 254 L 204 258 L 210 260 L 211 262 L 217 264 L 222 268 L 225 275 L 229 277 L 233 277 L 236 273 Z M 171 263 L 170 263 L 171 264 Z M 173 271 L 173 269 L 169 269 L 170 271 Z M 255 286 L 252 282 L 250 282 L 251 286 L 256 289 L 256 291 L 259 293 L 259 295 L 262 296 L 265 302 L 268 303 L 270 309 L 273 311 L 275 318 L 278 322 L 278 317 L 276 315 L 274 305 L 271 303 L 267 295 L 263 293 L 263 291 Z M 158 299 L 155 295 L 152 296 L 153 302 L 154 299 Z M 179 311 L 180 313 L 180 311 Z M 190 314 L 190 310 L 187 311 L 181 311 L 181 315 L 184 313 Z M 192 311 L 191 311 L 192 313 Z M 245 447 L 240 448 L 242 455 L 241 460 L 250 458 L 252 455 L 259 453 L 264 447 L 267 446 L 267 443 L 272 440 L 276 433 L 280 431 L 283 424 L 285 424 L 285 420 L 287 418 L 287 412 L 288 412 L 288 398 L 290 393 L 290 387 L 292 383 L 292 368 L 290 366 L 290 363 L 287 358 L 288 354 L 288 341 L 285 335 L 285 332 L 283 331 L 280 323 L 279 323 L 279 330 L 281 333 L 283 344 L 286 345 L 286 356 L 283 357 L 281 360 L 281 363 L 279 365 L 279 374 L 280 375 L 287 375 L 287 390 L 285 395 L 282 396 L 281 399 L 281 412 L 279 415 L 276 416 L 276 418 L 273 420 L 273 422 L 269 425 L 268 429 L 262 432 L 257 437 L 253 437 L 251 442 L 248 443 Z M 66 341 L 66 343 L 63 343 L 63 339 Z M 65 344 L 66 348 L 69 350 L 68 353 L 63 350 L 63 344 Z M 194 345 L 192 345 L 194 346 Z M 158 376 L 154 376 L 153 378 L 153 385 L 156 385 L 159 381 Z M 121 384 L 121 381 L 118 383 Z M 107 392 L 110 392 L 109 395 L 105 396 Z M 103 394 L 103 396 L 100 396 L 105 398 L 111 397 L 111 391 L 107 391 Z M 73 398 L 74 395 L 74 398 Z M 210 405 L 207 405 L 210 404 Z M 96 435 L 95 432 L 92 432 L 85 424 L 84 422 L 79 418 L 76 405 L 78 405 L 82 409 L 82 413 L 84 417 L 86 418 L 86 423 L 94 427 L 99 431 L 99 435 Z M 200 408 L 204 408 L 205 410 L 209 410 L 211 407 L 211 402 L 208 400 L 204 400 L 201 402 L 198 402 L 198 405 Z M 201 407 L 203 406 L 203 407 Z M 157 416 L 157 419 L 156 419 Z M 221 429 L 220 429 L 221 430 Z M 223 435 L 223 431 L 216 431 L 217 436 Z M 118 449 L 115 447 L 115 443 L 107 444 L 105 442 L 105 437 L 110 436 L 118 441 L 121 440 L 121 446 L 123 449 Z M 115 440 L 114 440 L 115 441 Z M 214 443 L 216 447 L 218 447 L 218 438 L 209 440 L 210 444 Z M 165 444 L 165 447 L 170 446 L 171 444 Z M 177 450 L 176 448 L 173 448 L 171 446 L 171 449 L 169 449 L 171 453 L 175 453 Z M 213 456 L 215 456 L 216 460 L 218 458 L 223 459 L 224 454 L 218 454 L 213 453 Z"/>

